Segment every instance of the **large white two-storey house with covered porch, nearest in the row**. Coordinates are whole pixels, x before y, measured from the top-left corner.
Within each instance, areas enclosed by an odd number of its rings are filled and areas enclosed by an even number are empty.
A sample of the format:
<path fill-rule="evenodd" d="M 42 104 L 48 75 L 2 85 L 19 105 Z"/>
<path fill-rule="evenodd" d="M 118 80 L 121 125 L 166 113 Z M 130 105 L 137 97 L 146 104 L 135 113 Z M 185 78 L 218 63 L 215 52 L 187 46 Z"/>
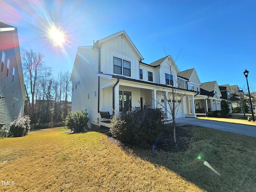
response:
<path fill-rule="evenodd" d="M 125 31 L 98 40 L 93 46 L 78 47 L 70 78 L 72 112 L 87 109 L 90 128 L 109 127 L 100 112 L 113 114 L 112 109 L 163 108 L 170 118 L 168 102 L 180 102 L 176 118 L 196 117 L 197 93 L 178 88 L 179 70 L 171 56 L 150 64 L 142 60 Z M 171 100 L 172 87 L 179 92 L 177 101 Z"/>

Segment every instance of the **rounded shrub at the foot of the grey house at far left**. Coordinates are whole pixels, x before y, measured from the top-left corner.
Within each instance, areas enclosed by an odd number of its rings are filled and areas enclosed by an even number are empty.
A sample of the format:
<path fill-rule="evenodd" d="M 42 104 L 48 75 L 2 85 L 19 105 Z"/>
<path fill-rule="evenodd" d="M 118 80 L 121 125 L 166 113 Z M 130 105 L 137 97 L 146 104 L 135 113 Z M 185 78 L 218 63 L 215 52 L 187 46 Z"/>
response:
<path fill-rule="evenodd" d="M 22 118 L 17 118 L 10 125 L 9 133 L 11 137 L 25 136 L 30 130 L 30 117 L 25 115 Z"/>

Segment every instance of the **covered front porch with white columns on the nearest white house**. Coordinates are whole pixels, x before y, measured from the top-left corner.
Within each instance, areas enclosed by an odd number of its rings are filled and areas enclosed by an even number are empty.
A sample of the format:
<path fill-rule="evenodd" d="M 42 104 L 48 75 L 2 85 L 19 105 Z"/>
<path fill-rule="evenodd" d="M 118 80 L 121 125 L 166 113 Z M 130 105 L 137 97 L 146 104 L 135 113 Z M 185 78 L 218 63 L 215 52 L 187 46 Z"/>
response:
<path fill-rule="evenodd" d="M 176 118 L 196 117 L 194 92 L 183 90 L 176 94 L 175 100 L 171 98 L 171 88 L 153 86 L 144 82 L 118 81 L 112 78 L 110 81 L 102 81 L 99 109 L 112 115 L 117 112 L 139 110 L 145 107 L 162 108 L 166 118 L 170 120 L 172 119 L 170 104 L 177 102 Z M 109 127 L 107 120 L 109 119 L 100 116 L 100 125 Z"/>

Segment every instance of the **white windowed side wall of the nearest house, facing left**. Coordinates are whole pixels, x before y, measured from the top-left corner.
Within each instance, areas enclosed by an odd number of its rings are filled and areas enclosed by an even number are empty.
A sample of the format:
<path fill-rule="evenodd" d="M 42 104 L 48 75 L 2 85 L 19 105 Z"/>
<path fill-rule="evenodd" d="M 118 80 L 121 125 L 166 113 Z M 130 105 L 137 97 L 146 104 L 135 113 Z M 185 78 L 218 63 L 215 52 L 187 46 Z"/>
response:
<path fill-rule="evenodd" d="M 79 47 L 78 60 L 72 84 L 72 113 L 87 110 L 89 128 L 98 116 L 98 49 L 92 47 Z M 76 86 L 77 82 L 77 86 Z M 78 84 L 78 82 L 80 82 Z M 94 96 L 96 92 L 96 96 Z"/>

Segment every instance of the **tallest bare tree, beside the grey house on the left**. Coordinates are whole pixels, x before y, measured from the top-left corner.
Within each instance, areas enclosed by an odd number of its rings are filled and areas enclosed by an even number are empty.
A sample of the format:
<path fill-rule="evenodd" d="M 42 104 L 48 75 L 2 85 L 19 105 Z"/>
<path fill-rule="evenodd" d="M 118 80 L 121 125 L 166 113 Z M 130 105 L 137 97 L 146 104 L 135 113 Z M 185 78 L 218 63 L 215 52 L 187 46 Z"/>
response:
<path fill-rule="evenodd" d="M 31 103 L 31 120 L 34 119 L 34 98 L 35 98 L 35 88 L 38 84 L 38 80 L 44 76 L 44 71 L 47 69 L 43 62 L 44 55 L 41 52 L 35 53 L 31 48 L 30 50 L 21 49 L 21 60 L 22 69 L 25 82 L 27 83 L 27 88 L 30 88 L 30 93 L 32 97 Z"/>

